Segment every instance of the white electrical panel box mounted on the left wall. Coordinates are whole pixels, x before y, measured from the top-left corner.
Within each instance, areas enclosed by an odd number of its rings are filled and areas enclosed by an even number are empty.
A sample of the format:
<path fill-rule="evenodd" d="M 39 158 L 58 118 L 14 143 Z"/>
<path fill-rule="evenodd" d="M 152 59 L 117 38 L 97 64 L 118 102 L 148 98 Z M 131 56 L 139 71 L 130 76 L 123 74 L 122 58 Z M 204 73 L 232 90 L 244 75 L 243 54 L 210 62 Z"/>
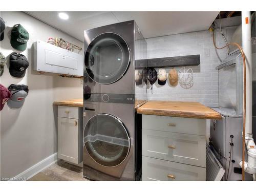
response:
<path fill-rule="evenodd" d="M 83 55 L 40 40 L 34 42 L 33 49 L 35 71 L 83 76 Z"/>

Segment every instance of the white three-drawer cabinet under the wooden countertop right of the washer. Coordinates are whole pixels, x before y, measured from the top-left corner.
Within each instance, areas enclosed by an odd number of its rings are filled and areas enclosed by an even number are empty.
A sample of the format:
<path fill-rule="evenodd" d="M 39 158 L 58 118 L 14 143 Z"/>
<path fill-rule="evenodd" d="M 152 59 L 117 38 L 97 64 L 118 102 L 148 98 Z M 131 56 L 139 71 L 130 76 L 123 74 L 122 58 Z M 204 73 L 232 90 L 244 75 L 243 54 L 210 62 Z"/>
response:
<path fill-rule="evenodd" d="M 142 181 L 205 181 L 206 119 L 142 115 Z"/>

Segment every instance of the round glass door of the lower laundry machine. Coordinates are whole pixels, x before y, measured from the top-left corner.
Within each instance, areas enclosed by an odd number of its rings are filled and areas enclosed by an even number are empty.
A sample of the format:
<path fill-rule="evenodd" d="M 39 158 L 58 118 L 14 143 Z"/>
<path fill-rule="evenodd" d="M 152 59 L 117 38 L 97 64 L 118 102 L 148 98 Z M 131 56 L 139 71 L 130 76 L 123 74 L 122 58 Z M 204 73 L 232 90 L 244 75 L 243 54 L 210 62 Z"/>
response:
<path fill-rule="evenodd" d="M 87 122 L 83 144 L 97 163 L 107 167 L 122 163 L 130 151 L 130 138 L 123 123 L 109 114 L 95 115 Z"/>

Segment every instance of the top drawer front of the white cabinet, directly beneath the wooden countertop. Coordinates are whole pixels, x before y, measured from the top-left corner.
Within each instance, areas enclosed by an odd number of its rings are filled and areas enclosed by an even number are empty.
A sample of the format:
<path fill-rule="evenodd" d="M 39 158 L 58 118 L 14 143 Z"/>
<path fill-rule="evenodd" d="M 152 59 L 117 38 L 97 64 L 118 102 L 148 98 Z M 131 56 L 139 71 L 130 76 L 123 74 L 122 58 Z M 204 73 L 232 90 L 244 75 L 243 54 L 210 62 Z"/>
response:
<path fill-rule="evenodd" d="M 206 119 L 142 115 L 142 129 L 206 136 Z"/>

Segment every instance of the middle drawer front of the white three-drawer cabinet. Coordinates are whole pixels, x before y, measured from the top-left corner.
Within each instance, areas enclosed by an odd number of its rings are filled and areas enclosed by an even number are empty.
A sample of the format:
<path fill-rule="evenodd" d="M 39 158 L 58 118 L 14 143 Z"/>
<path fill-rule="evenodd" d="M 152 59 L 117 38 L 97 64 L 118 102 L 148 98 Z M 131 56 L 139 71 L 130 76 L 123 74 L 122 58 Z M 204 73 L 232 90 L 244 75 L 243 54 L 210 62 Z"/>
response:
<path fill-rule="evenodd" d="M 205 167 L 205 136 L 142 130 L 142 155 Z"/>

